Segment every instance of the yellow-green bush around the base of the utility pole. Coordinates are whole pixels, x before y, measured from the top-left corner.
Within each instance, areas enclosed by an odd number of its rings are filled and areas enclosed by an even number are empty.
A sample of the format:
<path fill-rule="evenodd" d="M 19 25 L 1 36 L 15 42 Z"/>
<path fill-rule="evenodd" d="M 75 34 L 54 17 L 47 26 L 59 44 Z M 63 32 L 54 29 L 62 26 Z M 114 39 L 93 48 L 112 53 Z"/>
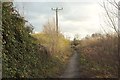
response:
<path fill-rule="evenodd" d="M 36 43 L 39 43 L 47 48 L 50 55 L 58 57 L 63 62 L 70 57 L 70 41 L 65 39 L 62 34 L 59 34 L 59 37 L 56 38 L 56 42 L 53 42 L 54 40 L 51 39 L 52 37 L 45 33 L 38 33 L 32 35 L 37 38 Z"/>

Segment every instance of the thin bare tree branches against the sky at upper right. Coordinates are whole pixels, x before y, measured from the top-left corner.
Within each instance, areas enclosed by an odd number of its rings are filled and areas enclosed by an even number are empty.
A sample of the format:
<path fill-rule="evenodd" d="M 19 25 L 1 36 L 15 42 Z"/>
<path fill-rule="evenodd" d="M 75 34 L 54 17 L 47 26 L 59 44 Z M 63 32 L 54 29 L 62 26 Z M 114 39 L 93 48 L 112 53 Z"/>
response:
<path fill-rule="evenodd" d="M 101 4 L 100 4 L 101 5 Z M 119 28 L 118 28 L 118 23 L 119 23 L 119 4 L 115 0 L 105 0 L 102 2 L 101 5 L 104 10 L 105 10 L 105 17 L 106 17 L 106 24 L 112 28 L 117 35 L 119 36 Z"/>

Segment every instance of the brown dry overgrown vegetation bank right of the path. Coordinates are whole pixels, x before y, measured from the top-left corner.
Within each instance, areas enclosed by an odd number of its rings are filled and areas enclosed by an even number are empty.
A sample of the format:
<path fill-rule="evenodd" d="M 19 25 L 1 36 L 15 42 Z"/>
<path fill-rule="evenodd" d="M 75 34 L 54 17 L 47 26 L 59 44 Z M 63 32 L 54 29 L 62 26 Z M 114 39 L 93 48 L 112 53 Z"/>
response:
<path fill-rule="evenodd" d="M 90 37 L 78 45 L 80 63 L 93 77 L 113 78 L 118 73 L 118 47 L 115 35 Z M 92 77 L 92 76 L 91 76 Z"/>

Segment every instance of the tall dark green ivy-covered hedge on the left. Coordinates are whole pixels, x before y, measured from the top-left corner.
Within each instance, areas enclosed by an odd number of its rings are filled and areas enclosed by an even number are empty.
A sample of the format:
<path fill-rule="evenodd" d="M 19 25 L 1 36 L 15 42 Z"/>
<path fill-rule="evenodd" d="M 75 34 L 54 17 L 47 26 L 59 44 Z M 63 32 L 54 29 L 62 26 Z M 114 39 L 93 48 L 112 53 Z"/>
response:
<path fill-rule="evenodd" d="M 40 77 L 42 59 L 47 58 L 45 48 L 34 43 L 13 3 L 2 5 L 3 77 Z"/>

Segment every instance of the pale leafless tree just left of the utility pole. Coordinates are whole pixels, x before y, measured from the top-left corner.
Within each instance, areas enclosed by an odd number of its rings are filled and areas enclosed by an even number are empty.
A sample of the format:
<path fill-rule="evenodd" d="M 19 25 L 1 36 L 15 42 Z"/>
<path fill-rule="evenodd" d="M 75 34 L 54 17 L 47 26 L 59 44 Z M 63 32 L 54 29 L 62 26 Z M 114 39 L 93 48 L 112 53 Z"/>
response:
<path fill-rule="evenodd" d="M 55 26 L 55 21 L 53 20 L 48 20 L 48 22 L 44 25 L 43 27 L 43 33 L 46 34 L 49 37 L 49 43 L 47 45 L 49 51 L 51 54 L 56 53 L 56 46 L 57 46 L 57 41 L 58 41 L 58 36 L 56 32 L 56 26 Z"/>

